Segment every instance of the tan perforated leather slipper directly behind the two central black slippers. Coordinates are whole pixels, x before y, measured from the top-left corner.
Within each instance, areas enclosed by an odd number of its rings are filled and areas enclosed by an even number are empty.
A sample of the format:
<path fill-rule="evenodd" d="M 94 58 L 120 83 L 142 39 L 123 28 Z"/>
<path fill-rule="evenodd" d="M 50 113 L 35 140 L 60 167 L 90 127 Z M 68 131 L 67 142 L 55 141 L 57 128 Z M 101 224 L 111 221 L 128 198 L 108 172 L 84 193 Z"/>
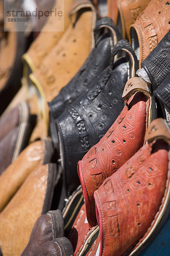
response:
<path fill-rule="evenodd" d="M 57 45 L 29 77 L 37 87 L 42 103 L 40 109 L 48 126 L 47 102 L 64 87 L 77 73 L 94 47 L 93 29 L 96 11 L 89 0 L 75 1 L 69 12 L 71 24 Z M 51 60 L 55 59 L 55 62 Z"/>

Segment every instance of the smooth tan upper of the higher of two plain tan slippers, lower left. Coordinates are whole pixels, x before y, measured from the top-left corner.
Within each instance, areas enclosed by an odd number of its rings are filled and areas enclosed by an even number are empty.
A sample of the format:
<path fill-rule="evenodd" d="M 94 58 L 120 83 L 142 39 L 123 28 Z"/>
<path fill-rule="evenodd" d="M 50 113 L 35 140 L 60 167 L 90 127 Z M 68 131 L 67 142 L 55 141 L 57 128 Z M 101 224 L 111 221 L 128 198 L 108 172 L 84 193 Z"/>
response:
<path fill-rule="evenodd" d="M 45 144 L 36 141 L 25 148 L 19 157 L 0 175 L 0 211 L 8 204 L 26 177 L 43 163 Z"/>

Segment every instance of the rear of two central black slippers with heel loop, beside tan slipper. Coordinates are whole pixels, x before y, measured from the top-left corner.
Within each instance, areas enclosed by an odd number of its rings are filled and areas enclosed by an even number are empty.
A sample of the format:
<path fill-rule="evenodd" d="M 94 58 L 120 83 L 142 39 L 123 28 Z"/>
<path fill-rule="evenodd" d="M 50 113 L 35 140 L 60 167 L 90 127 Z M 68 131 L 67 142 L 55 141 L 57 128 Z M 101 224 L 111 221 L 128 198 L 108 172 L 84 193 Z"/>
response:
<path fill-rule="evenodd" d="M 101 32 L 102 28 L 105 28 L 104 32 Z M 112 30 L 115 32 L 114 35 Z M 111 18 L 105 17 L 97 21 L 94 29 L 95 48 L 74 78 L 62 88 L 57 97 L 48 103 L 54 118 L 57 118 L 71 102 L 74 102 L 83 91 L 87 90 L 96 76 L 108 67 L 115 35 L 116 38 L 119 38 L 119 32 Z"/>

